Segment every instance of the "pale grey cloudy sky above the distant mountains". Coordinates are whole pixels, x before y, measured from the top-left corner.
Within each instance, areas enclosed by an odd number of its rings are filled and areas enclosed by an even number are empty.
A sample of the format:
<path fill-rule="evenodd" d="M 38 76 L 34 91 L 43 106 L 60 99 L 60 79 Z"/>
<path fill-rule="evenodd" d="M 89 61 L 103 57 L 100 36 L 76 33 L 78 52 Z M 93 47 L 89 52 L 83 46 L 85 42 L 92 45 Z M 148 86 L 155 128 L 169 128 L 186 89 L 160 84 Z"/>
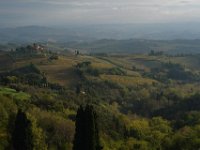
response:
<path fill-rule="evenodd" d="M 200 20 L 200 0 L 0 0 L 0 26 Z"/>

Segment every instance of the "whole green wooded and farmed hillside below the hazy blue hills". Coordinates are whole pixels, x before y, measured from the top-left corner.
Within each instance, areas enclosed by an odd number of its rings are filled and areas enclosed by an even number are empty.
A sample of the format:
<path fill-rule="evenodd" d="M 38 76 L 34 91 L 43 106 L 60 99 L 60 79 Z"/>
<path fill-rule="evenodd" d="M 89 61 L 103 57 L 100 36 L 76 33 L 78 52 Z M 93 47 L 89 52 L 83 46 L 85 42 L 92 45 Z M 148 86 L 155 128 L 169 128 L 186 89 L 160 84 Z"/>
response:
<path fill-rule="evenodd" d="M 158 51 L 0 52 L 0 149 L 198 150 L 199 64 Z"/>

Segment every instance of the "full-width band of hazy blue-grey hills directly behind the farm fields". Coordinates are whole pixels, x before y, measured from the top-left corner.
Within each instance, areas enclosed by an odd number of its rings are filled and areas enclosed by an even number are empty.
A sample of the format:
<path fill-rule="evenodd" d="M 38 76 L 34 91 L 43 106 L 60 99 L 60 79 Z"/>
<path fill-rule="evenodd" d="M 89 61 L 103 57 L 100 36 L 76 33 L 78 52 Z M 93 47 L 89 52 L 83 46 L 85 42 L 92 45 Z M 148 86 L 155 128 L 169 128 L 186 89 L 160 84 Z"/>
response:
<path fill-rule="evenodd" d="M 32 33 L 27 33 L 32 34 Z M 63 33 L 64 34 L 64 33 Z M 52 34 L 52 37 L 55 37 Z M 23 40 L 24 41 L 24 40 Z M 12 41 L 1 42 L 0 50 L 10 51 L 21 45 L 26 46 L 27 43 L 32 43 L 30 40 L 27 42 Z M 101 40 L 56 40 L 51 36 L 45 40 L 39 40 L 39 43 L 48 46 L 51 51 L 59 51 L 61 53 L 74 52 L 75 49 L 82 53 L 87 54 L 105 54 L 105 53 L 129 53 L 129 54 L 143 54 L 150 53 L 151 51 L 162 52 L 169 55 L 180 54 L 199 54 L 200 53 L 200 40 L 142 40 L 142 39 L 101 39 Z"/>

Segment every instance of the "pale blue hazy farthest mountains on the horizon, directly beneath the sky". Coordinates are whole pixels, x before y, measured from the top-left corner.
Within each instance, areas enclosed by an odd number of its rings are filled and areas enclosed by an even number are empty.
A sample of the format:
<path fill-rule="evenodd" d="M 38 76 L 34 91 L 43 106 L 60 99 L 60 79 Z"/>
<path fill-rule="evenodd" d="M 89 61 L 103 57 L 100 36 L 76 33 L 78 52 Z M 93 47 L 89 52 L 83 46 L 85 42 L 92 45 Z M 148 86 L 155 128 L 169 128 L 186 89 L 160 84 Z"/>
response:
<path fill-rule="evenodd" d="M 1 42 L 95 41 L 100 39 L 200 39 L 200 23 L 110 24 L 0 28 Z"/>

